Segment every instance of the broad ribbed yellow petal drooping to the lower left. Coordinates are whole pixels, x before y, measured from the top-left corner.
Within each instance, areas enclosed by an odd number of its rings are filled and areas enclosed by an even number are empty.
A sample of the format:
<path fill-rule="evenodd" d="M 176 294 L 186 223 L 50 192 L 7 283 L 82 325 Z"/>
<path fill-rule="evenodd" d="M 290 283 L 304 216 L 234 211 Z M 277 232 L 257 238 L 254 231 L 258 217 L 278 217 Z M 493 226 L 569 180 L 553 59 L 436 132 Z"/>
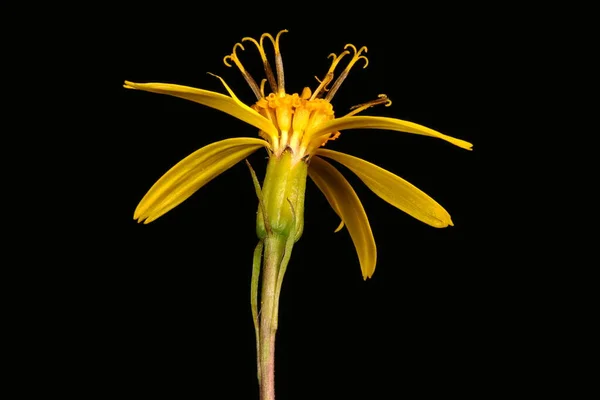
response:
<path fill-rule="evenodd" d="M 213 178 L 248 157 L 267 142 L 233 138 L 209 144 L 190 154 L 164 174 L 144 196 L 133 215 L 149 223 L 190 197 Z"/>

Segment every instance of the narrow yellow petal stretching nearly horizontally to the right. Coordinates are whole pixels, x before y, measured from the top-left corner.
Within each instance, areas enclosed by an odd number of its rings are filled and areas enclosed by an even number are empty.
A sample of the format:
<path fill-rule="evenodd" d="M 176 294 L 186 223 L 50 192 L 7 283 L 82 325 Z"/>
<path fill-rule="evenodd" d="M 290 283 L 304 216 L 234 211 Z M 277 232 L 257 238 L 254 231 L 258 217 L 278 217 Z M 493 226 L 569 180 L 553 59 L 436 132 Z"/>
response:
<path fill-rule="evenodd" d="M 311 137 L 319 137 L 328 135 L 331 132 L 341 131 L 344 129 L 388 129 L 392 131 L 408 132 L 417 135 L 431 136 L 445 140 L 458 147 L 466 150 L 472 150 L 473 145 L 465 140 L 456 139 L 452 136 L 444 135 L 443 133 L 434 131 L 423 125 L 415 124 L 414 122 L 402 121 L 396 118 L 386 117 L 342 117 L 328 121 L 317 126 L 312 132 L 308 132 Z"/>

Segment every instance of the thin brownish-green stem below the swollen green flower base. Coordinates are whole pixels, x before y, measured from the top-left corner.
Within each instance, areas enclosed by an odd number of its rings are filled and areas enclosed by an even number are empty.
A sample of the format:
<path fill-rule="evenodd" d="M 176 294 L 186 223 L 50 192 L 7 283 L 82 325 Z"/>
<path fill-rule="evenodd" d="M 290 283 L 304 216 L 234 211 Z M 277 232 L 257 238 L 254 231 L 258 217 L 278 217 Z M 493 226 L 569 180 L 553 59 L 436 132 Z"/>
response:
<path fill-rule="evenodd" d="M 269 235 L 265 238 L 260 309 L 260 399 L 275 399 L 275 334 L 277 324 L 277 276 L 285 252 L 286 238 Z"/>

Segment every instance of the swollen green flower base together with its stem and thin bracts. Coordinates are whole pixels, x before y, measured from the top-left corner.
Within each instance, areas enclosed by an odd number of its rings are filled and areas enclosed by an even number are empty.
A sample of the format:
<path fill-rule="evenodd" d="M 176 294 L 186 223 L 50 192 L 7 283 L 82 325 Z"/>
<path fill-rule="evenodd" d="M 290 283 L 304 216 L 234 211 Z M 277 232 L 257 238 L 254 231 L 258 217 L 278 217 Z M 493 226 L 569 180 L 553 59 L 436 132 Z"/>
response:
<path fill-rule="evenodd" d="M 249 164 L 248 164 L 249 165 Z M 275 399 L 275 335 L 283 277 L 294 243 L 304 227 L 304 192 L 308 165 L 294 161 L 290 151 L 271 155 L 262 188 L 250 167 L 259 207 L 256 230 L 260 239 L 254 254 L 251 304 L 256 331 L 260 399 Z M 258 282 L 260 252 L 264 249 L 260 313 Z M 259 317 L 260 315 L 260 317 Z"/>

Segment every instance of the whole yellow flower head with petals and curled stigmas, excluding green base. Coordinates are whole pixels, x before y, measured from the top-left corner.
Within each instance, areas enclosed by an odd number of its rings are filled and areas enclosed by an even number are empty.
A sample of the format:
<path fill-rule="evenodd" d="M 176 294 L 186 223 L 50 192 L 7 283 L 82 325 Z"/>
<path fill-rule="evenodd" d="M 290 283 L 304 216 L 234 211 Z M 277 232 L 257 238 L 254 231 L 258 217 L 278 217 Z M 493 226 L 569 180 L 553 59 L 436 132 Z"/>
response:
<path fill-rule="evenodd" d="M 350 113 L 335 118 L 331 100 L 354 64 L 362 60 L 364 67 L 367 66 L 368 59 L 364 55 L 367 52 L 366 47 L 357 49 L 352 44 L 347 44 L 340 54 L 330 54 L 331 67 L 314 91 L 305 87 L 301 94 L 286 93 L 279 50 L 279 39 L 284 32 L 287 31 L 279 32 L 275 38 L 265 33 L 258 41 L 248 37 L 242 39 L 242 42 L 254 44 L 262 58 L 266 79 L 263 79 L 260 85 L 246 71 L 237 56 L 238 48 L 245 50 L 242 43 L 235 44 L 232 53 L 223 60 L 227 66 L 231 67 L 233 62 L 239 68 L 256 95 L 257 101 L 251 106 L 241 102 L 225 81 L 216 75 L 223 83 L 228 96 L 187 86 L 125 81 L 124 86 L 128 89 L 181 97 L 223 111 L 256 127 L 261 137 L 226 139 L 192 153 L 152 186 L 137 206 L 134 219 L 144 223 L 156 220 L 207 182 L 261 147 L 267 149 L 271 158 L 280 158 L 282 154 L 289 152 L 292 167 L 300 162 L 308 164 L 308 175 L 341 218 L 342 222 L 336 232 L 344 225 L 348 228 L 358 253 L 363 277 L 366 279 L 372 276 L 377 259 L 369 221 L 348 181 L 322 157 L 345 165 L 376 195 L 428 225 L 436 228 L 452 225 L 450 214 L 427 194 L 391 172 L 360 158 L 321 147 L 329 140 L 336 139 L 340 131 L 346 129 L 408 132 L 439 138 L 467 150 L 471 150 L 472 145 L 412 122 L 386 117 L 356 116 L 374 105 L 389 106 L 391 101 L 386 95 L 379 95 L 378 99 L 355 106 Z M 275 71 L 265 53 L 265 39 L 269 39 L 275 49 Z M 334 80 L 338 64 L 346 56 L 351 56 L 350 62 Z M 267 82 L 271 93 L 265 95 Z"/>

